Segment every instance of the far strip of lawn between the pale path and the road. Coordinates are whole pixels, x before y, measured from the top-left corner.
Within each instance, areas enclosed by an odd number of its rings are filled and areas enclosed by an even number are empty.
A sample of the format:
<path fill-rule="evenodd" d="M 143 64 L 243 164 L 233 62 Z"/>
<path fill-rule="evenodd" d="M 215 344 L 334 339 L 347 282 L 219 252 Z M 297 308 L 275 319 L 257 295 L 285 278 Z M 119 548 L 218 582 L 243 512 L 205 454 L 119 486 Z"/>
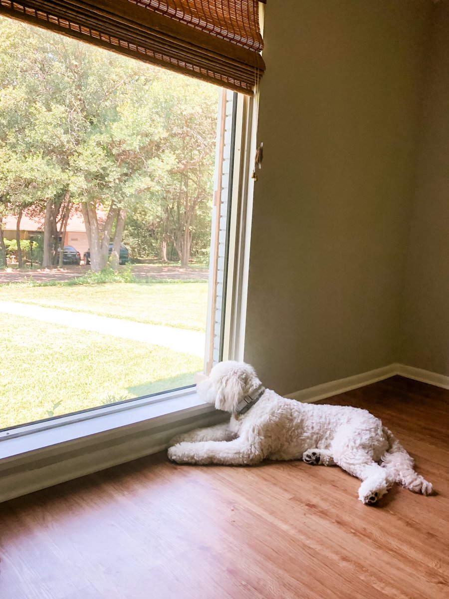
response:
<path fill-rule="evenodd" d="M 207 292 L 207 281 L 48 287 L 2 285 L 0 299 L 205 331 Z"/>

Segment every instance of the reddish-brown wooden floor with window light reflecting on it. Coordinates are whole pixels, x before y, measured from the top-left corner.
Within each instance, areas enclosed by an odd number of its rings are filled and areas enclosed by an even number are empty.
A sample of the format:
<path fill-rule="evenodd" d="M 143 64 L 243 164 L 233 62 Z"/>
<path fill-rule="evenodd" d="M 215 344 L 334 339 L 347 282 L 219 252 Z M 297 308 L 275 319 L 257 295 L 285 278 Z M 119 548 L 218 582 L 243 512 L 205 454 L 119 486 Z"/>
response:
<path fill-rule="evenodd" d="M 449 391 L 392 377 L 322 403 L 380 416 L 436 494 L 364 506 L 339 468 L 158 454 L 2 504 L 1 599 L 447 599 Z"/>

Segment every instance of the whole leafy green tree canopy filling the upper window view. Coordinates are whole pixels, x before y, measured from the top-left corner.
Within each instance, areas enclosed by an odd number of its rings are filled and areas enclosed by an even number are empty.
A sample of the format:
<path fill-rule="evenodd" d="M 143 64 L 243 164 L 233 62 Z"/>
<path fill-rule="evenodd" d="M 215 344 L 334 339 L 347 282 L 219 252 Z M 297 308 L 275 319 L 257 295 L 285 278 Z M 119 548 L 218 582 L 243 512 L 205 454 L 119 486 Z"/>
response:
<path fill-rule="evenodd" d="M 217 88 L 5 18 L 0 37 L 0 227 L 43 217 L 45 266 L 72 210 L 94 270 L 122 236 L 135 257 L 172 247 L 183 265 L 205 249 Z"/>

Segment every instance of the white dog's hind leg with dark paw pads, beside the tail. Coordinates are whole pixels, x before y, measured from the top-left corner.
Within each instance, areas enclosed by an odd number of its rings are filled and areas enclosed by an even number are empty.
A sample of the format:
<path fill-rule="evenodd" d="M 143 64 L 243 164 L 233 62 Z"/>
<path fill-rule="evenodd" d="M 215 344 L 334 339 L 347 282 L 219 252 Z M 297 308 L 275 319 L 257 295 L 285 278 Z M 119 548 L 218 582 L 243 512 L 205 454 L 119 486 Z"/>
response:
<path fill-rule="evenodd" d="M 376 503 L 393 484 L 386 468 L 381 468 L 362 449 L 351 448 L 334 458 L 339 467 L 363 481 L 359 487 L 359 499 L 363 503 Z"/>

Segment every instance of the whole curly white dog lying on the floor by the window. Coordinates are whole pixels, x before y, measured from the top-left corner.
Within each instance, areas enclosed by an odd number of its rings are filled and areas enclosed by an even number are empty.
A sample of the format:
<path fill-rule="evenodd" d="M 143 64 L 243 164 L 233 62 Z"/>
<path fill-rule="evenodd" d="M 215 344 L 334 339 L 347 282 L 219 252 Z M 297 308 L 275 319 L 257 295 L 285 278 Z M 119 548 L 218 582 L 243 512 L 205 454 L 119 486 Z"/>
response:
<path fill-rule="evenodd" d="M 367 504 L 379 500 L 393 482 L 432 493 L 404 447 L 366 410 L 280 397 L 263 388 L 253 367 L 233 361 L 217 364 L 198 384 L 198 394 L 232 416 L 226 424 L 175 437 L 168 450 L 172 461 L 243 465 L 269 458 L 336 464 L 363 481 L 359 499 Z"/>

